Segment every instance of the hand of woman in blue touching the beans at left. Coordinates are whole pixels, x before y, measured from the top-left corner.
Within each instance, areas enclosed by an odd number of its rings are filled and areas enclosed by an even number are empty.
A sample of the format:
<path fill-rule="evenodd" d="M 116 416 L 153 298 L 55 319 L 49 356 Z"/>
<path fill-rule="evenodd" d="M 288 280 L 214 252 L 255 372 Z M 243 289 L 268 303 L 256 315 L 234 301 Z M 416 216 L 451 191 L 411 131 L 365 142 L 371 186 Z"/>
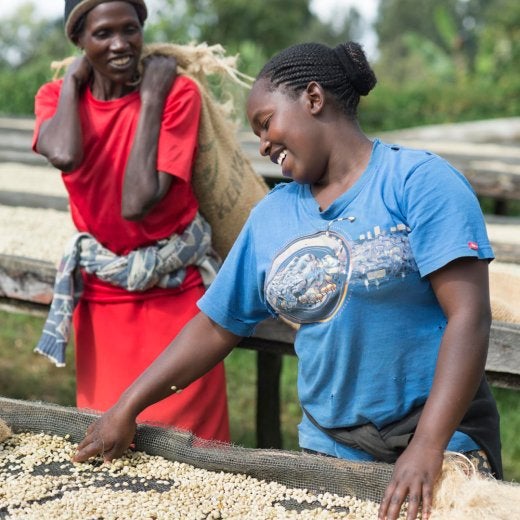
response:
<path fill-rule="evenodd" d="M 135 430 L 135 418 L 116 405 L 88 427 L 72 460 L 84 462 L 96 455 L 101 455 L 105 462 L 117 459 L 132 443 Z"/>

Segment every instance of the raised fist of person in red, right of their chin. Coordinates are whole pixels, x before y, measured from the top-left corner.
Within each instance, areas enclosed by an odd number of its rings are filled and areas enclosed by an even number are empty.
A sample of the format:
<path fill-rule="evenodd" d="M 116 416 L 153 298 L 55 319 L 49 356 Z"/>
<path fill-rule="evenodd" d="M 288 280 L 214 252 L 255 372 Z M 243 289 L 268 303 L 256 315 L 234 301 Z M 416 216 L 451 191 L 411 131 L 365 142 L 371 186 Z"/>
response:
<path fill-rule="evenodd" d="M 140 86 L 143 103 L 148 100 L 162 102 L 177 77 L 177 60 L 173 56 L 149 56 L 144 60 L 143 67 Z"/>

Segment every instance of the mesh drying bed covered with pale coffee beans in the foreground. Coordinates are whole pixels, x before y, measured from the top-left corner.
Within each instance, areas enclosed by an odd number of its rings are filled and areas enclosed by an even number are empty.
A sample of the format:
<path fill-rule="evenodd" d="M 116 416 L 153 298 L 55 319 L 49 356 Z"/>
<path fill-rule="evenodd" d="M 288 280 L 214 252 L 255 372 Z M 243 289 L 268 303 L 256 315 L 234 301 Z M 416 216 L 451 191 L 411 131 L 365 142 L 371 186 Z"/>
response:
<path fill-rule="evenodd" d="M 124 458 L 72 463 L 96 417 L 0 398 L 14 433 L 0 444 L 0 518 L 374 518 L 392 470 L 148 424 Z"/>

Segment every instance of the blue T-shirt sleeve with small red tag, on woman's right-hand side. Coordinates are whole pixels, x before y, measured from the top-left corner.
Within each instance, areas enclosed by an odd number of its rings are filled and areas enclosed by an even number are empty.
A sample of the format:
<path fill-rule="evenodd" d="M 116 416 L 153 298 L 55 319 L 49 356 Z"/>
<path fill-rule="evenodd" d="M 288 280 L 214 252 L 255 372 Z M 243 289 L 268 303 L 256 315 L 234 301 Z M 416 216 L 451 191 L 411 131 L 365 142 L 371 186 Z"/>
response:
<path fill-rule="evenodd" d="M 445 160 L 432 155 L 410 172 L 403 202 L 421 276 L 457 258 L 494 257 L 473 188 Z"/>

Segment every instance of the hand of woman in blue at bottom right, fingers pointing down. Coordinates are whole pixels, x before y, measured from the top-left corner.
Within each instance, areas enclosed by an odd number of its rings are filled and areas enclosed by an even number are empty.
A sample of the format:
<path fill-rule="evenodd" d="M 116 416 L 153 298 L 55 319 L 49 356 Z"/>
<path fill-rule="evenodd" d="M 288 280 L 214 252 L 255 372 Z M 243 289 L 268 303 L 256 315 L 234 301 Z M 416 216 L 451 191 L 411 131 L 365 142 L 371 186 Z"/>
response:
<path fill-rule="evenodd" d="M 442 469 L 444 450 L 424 446 L 414 439 L 395 463 L 392 479 L 379 508 L 379 520 L 396 520 L 408 498 L 407 520 L 417 518 L 419 506 L 422 519 L 428 520 L 433 488 Z"/>

